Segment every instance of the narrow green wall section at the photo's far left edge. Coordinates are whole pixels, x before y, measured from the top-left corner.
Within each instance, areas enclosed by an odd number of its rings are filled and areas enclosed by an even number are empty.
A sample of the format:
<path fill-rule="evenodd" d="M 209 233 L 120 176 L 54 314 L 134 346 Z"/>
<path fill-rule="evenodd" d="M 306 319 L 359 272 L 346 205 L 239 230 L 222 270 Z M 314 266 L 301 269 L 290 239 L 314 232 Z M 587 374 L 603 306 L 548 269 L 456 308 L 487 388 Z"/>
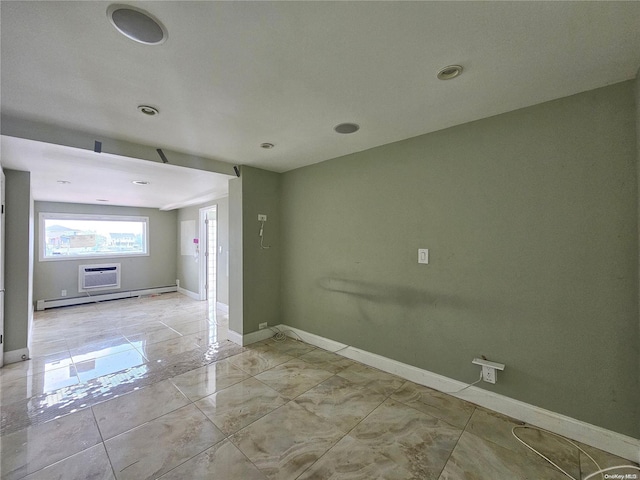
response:
<path fill-rule="evenodd" d="M 27 347 L 33 318 L 33 199 L 29 172 L 5 169 L 4 174 L 6 354 Z"/>

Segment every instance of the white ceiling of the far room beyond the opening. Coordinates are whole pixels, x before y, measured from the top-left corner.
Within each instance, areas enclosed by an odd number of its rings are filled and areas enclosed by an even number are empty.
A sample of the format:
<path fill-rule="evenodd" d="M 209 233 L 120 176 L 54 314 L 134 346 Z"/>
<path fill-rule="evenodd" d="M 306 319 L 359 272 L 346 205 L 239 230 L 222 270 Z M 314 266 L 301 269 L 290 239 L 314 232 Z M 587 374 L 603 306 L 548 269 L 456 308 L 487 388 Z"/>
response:
<path fill-rule="evenodd" d="M 197 205 L 223 197 L 228 193 L 227 182 L 231 178 L 202 170 L 4 135 L 2 164 L 14 170 L 31 172 L 31 188 L 36 200 L 161 210 Z M 134 180 L 149 184 L 135 185 L 132 183 Z"/>

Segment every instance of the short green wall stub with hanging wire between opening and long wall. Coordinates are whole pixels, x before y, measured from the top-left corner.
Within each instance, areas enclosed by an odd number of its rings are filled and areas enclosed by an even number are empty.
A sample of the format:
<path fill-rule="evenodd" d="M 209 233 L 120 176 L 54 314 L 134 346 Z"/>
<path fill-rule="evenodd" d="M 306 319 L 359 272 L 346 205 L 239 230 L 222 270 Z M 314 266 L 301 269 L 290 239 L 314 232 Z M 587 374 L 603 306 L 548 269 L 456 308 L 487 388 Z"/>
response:
<path fill-rule="evenodd" d="M 229 328 L 257 331 L 282 323 L 280 304 L 280 179 L 278 173 L 243 166 L 229 181 Z M 267 215 L 260 246 L 258 214 Z"/>

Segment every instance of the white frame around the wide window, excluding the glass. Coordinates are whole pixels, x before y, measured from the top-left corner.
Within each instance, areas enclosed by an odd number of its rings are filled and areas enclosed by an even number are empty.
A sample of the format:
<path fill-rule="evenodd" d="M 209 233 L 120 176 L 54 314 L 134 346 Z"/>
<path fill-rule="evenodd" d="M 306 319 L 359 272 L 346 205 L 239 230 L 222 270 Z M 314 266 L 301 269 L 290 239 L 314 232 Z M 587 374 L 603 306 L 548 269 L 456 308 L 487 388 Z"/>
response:
<path fill-rule="evenodd" d="M 136 217 L 129 215 L 96 215 L 85 213 L 53 213 L 40 212 L 38 215 L 39 235 L 38 235 L 38 260 L 41 262 L 63 262 L 69 260 L 82 260 L 84 258 L 120 258 L 120 257 L 148 257 L 149 256 L 149 217 Z M 45 220 L 97 220 L 97 221 L 121 221 L 121 222 L 140 222 L 144 224 L 144 252 L 142 253 L 96 253 L 88 255 L 65 255 L 65 256 L 46 256 L 47 232 L 45 230 Z"/>

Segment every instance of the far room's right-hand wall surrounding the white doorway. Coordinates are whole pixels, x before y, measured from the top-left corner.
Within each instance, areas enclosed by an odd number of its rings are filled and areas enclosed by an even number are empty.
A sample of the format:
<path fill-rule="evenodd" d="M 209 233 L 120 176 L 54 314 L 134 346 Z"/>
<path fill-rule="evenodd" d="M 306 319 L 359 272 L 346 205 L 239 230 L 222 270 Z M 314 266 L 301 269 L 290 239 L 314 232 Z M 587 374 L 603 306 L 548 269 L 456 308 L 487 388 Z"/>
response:
<path fill-rule="evenodd" d="M 217 301 L 229 305 L 229 269 L 227 263 L 229 261 L 229 198 L 219 198 L 212 202 L 203 203 L 188 208 L 178 210 L 178 276 L 180 287 L 193 293 L 199 293 L 200 281 L 199 268 L 200 264 L 194 260 L 193 255 L 182 255 L 180 248 L 180 222 L 195 221 L 196 229 L 199 231 L 200 209 L 204 207 L 216 206 L 218 215 L 218 264 L 217 264 L 217 281 L 216 295 Z M 196 236 L 199 236 L 198 233 Z M 204 240 L 202 240 L 204 241 Z"/>

